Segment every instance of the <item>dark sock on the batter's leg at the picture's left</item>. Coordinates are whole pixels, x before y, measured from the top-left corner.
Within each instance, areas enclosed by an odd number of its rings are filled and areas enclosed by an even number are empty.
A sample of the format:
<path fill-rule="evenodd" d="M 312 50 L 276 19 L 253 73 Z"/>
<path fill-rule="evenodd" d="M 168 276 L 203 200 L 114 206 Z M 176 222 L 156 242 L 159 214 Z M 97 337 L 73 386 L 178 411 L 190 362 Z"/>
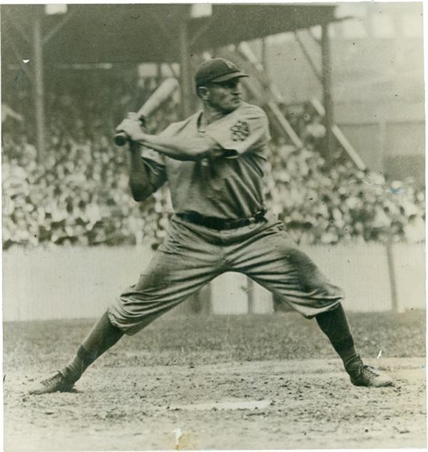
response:
<path fill-rule="evenodd" d="M 61 374 L 71 381 L 77 381 L 89 365 L 104 351 L 121 339 L 123 332 L 113 327 L 105 312 L 83 340 L 76 356 L 64 367 Z"/>

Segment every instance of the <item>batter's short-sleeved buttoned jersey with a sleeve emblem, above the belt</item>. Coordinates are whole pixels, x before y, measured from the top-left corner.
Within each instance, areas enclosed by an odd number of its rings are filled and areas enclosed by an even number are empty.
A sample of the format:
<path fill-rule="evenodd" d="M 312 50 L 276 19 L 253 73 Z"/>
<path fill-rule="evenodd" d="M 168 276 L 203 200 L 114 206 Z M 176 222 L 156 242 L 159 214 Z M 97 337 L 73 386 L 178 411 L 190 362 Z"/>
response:
<path fill-rule="evenodd" d="M 265 163 L 270 140 L 265 112 L 242 103 L 232 113 L 202 126 L 202 111 L 168 126 L 168 137 L 212 138 L 225 150 L 215 160 L 180 161 L 144 149 L 153 191 L 168 180 L 175 213 L 218 218 L 250 217 L 264 206 Z"/>

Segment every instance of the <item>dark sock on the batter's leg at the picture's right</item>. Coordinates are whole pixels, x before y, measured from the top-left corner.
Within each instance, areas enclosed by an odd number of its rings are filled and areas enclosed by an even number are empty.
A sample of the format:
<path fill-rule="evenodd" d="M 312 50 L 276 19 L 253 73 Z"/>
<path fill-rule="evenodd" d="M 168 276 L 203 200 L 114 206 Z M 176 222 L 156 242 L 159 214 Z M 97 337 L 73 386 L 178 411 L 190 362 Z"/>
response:
<path fill-rule="evenodd" d="M 354 339 L 342 304 L 332 311 L 318 314 L 315 318 L 342 359 L 345 369 L 351 369 L 353 365 L 361 362 L 360 356 L 355 351 Z"/>

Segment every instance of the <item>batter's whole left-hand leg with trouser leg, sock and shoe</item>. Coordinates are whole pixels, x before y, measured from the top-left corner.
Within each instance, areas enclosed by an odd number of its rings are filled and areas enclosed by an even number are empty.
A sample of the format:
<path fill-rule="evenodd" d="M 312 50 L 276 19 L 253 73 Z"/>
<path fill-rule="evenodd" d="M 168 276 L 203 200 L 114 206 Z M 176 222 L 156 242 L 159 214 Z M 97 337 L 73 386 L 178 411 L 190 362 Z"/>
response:
<path fill-rule="evenodd" d="M 123 334 L 139 332 L 223 272 L 223 267 L 214 243 L 172 222 L 167 239 L 138 282 L 96 322 L 67 366 L 41 381 L 31 394 L 71 390 L 83 371 Z"/>

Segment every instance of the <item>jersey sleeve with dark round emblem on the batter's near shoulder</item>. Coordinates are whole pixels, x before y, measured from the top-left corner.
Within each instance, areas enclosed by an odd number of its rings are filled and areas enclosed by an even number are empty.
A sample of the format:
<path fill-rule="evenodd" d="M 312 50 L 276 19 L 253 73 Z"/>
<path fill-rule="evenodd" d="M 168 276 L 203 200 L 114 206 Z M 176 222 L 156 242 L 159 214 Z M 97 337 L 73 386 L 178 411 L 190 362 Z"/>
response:
<path fill-rule="evenodd" d="M 228 157 L 262 149 L 270 140 L 266 114 L 256 106 L 240 108 L 208 125 L 206 135 L 225 150 Z"/>

